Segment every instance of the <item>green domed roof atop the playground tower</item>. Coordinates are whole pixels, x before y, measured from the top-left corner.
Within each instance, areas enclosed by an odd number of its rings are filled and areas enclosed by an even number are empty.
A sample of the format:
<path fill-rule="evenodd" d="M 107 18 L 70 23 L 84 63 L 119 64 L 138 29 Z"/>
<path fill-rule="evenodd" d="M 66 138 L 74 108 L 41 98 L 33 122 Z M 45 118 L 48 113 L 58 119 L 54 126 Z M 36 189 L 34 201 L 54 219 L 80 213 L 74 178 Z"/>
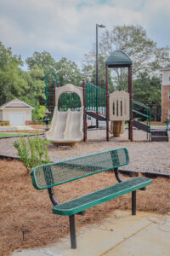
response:
<path fill-rule="evenodd" d="M 108 67 L 129 67 L 133 61 L 122 50 L 112 52 L 109 58 L 105 61 Z"/>

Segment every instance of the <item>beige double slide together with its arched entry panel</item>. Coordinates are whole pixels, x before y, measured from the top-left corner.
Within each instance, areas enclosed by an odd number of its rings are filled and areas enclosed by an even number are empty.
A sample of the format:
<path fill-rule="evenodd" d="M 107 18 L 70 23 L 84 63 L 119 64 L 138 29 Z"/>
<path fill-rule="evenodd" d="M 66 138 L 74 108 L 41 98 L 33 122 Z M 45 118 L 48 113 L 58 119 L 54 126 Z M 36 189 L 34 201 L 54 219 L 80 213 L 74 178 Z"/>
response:
<path fill-rule="evenodd" d="M 66 111 L 59 111 L 59 96 L 64 93 L 77 94 L 80 99 L 81 108 L 79 111 L 71 111 L 67 108 Z M 52 119 L 51 128 L 46 132 L 46 139 L 53 143 L 77 143 L 82 141 L 82 117 L 83 117 L 83 100 L 82 88 L 73 84 L 65 84 L 63 87 L 55 89 L 55 108 Z"/>

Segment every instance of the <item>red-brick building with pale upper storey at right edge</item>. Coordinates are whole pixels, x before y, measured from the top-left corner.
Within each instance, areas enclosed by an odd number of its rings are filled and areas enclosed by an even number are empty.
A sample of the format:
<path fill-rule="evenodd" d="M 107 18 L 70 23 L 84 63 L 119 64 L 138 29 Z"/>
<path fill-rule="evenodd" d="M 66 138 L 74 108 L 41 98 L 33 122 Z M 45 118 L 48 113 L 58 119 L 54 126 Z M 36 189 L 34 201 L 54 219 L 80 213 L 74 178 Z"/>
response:
<path fill-rule="evenodd" d="M 170 119 L 170 66 L 161 69 L 161 121 Z"/>

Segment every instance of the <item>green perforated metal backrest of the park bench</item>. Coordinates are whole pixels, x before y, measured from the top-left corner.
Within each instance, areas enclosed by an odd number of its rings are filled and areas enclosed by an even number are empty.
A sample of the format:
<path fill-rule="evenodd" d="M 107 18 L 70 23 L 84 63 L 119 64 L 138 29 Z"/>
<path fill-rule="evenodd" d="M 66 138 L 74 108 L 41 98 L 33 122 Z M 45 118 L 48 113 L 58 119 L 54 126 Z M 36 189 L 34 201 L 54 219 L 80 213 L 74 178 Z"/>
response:
<path fill-rule="evenodd" d="M 48 189 L 81 177 L 125 166 L 128 163 L 127 148 L 118 148 L 36 166 L 31 170 L 31 181 L 35 189 Z"/>

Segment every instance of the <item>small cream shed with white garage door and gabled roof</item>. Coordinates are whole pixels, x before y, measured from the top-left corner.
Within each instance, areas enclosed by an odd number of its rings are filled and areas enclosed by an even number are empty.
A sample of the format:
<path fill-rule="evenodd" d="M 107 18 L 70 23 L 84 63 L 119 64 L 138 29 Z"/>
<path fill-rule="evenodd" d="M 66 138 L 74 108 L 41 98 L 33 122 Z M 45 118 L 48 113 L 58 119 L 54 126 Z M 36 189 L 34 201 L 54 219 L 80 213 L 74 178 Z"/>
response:
<path fill-rule="evenodd" d="M 32 108 L 26 102 L 14 99 L 0 107 L 0 122 L 9 125 L 29 125 L 31 124 Z"/>

